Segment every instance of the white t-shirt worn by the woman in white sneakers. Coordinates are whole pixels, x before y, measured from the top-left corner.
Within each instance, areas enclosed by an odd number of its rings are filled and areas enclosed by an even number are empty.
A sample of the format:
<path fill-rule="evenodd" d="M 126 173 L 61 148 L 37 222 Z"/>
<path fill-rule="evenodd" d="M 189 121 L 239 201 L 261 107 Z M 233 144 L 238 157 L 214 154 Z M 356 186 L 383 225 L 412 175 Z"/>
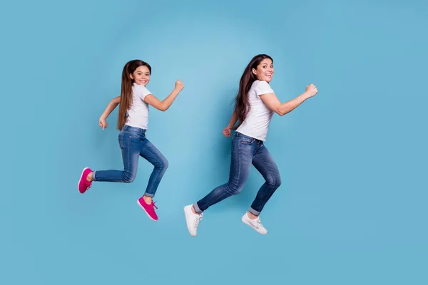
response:
<path fill-rule="evenodd" d="M 267 129 L 272 119 L 273 111 L 263 103 L 261 94 L 274 93 L 266 81 L 254 81 L 248 91 L 250 101 L 250 112 L 245 116 L 245 120 L 236 130 L 243 135 L 265 141 Z"/>

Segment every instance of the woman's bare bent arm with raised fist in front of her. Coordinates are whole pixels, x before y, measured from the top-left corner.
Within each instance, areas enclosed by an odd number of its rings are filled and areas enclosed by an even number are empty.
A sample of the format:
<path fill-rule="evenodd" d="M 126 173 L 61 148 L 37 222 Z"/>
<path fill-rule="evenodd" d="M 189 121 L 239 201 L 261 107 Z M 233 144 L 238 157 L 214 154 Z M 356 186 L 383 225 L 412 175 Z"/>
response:
<path fill-rule="evenodd" d="M 280 103 L 280 100 L 278 100 L 277 96 L 274 93 L 262 94 L 260 95 L 260 98 L 262 98 L 263 103 L 267 105 L 267 108 L 270 108 L 270 110 L 274 111 L 278 115 L 283 116 L 287 113 L 290 113 L 292 110 L 297 108 L 297 106 L 305 102 L 305 100 L 315 96 L 315 94 L 317 93 L 317 88 L 315 87 L 315 85 L 311 84 L 310 86 L 306 87 L 305 93 L 302 93 L 296 98 L 285 103 Z"/>

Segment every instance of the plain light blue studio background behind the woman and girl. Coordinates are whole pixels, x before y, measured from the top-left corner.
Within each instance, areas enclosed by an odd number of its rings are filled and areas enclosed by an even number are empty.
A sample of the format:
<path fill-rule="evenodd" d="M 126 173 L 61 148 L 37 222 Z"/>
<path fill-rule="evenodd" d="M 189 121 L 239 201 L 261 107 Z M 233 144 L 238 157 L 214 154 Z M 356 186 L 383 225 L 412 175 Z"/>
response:
<path fill-rule="evenodd" d="M 0 284 L 428 284 L 427 27 L 423 1 L 2 2 Z M 266 145 L 283 184 L 260 216 L 240 217 L 263 183 L 205 212 L 198 237 L 183 206 L 228 180 L 221 131 L 248 61 L 274 59 L 282 102 Z M 98 118 L 123 65 L 153 66 L 148 138 L 170 162 L 153 223 L 121 169 L 115 130 Z"/>

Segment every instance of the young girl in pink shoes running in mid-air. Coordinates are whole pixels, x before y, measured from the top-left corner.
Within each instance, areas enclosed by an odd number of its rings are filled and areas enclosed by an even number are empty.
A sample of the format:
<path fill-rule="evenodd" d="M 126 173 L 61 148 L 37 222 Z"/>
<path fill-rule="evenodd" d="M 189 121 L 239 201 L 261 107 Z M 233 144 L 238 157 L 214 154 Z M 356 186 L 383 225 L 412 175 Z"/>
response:
<path fill-rule="evenodd" d="M 99 124 L 103 130 L 107 128 L 106 119 L 118 104 L 118 140 L 122 150 L 123 170 L 97 170 L 86 167 L 78 181 L 78 191 L 82 194 L 88 190 L 94 181 L 131 183 L 137 174 L 138 157 L 141 156 L 153 164 L 154 169 L 148 180 L 146 192 L 138 199 L 138 204 L 146 211 L 153 221 L 158 220 L 155 212 L 155 196 L 158 185 L 168 168 L 168 161 L 162 153 L 146 138 L 148 125 L 148 105 L 165 111 L 170 108 L 178 93 L 183 90 L 181 81 L 175 82 L 173 92 L 165 100 L 158 100 L 146 88 L 150 81 L 151 66 L 140 60 L 126 63 L 122 72 L 121 95 L 111 100 L 101 115 Z M 156 207 L 158 209 L 158 207 Z"/>

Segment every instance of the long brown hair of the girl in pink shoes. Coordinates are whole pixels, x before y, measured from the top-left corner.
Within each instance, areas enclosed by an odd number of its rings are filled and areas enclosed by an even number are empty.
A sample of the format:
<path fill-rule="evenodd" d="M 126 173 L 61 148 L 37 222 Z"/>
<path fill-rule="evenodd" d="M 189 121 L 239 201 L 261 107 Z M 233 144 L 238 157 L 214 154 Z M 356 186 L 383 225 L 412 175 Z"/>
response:
<path fill-rule="evenodd" d="M 133 61 L 128 61 L 123 67 L 122 71 L 122 90 L 121 90 L 121 105 L 119 106 L 119 115 L 118 115 L 118 130 L 122 130 L 123 125 L 126 122 L 126 112 L 132 104 L 132 85 L 133 79 L 131 79 L 131 74 L 136 71 L 138 66 L 147 66 L 149 73 L 151 74 L 151 66 L 139 59 Z"/>

